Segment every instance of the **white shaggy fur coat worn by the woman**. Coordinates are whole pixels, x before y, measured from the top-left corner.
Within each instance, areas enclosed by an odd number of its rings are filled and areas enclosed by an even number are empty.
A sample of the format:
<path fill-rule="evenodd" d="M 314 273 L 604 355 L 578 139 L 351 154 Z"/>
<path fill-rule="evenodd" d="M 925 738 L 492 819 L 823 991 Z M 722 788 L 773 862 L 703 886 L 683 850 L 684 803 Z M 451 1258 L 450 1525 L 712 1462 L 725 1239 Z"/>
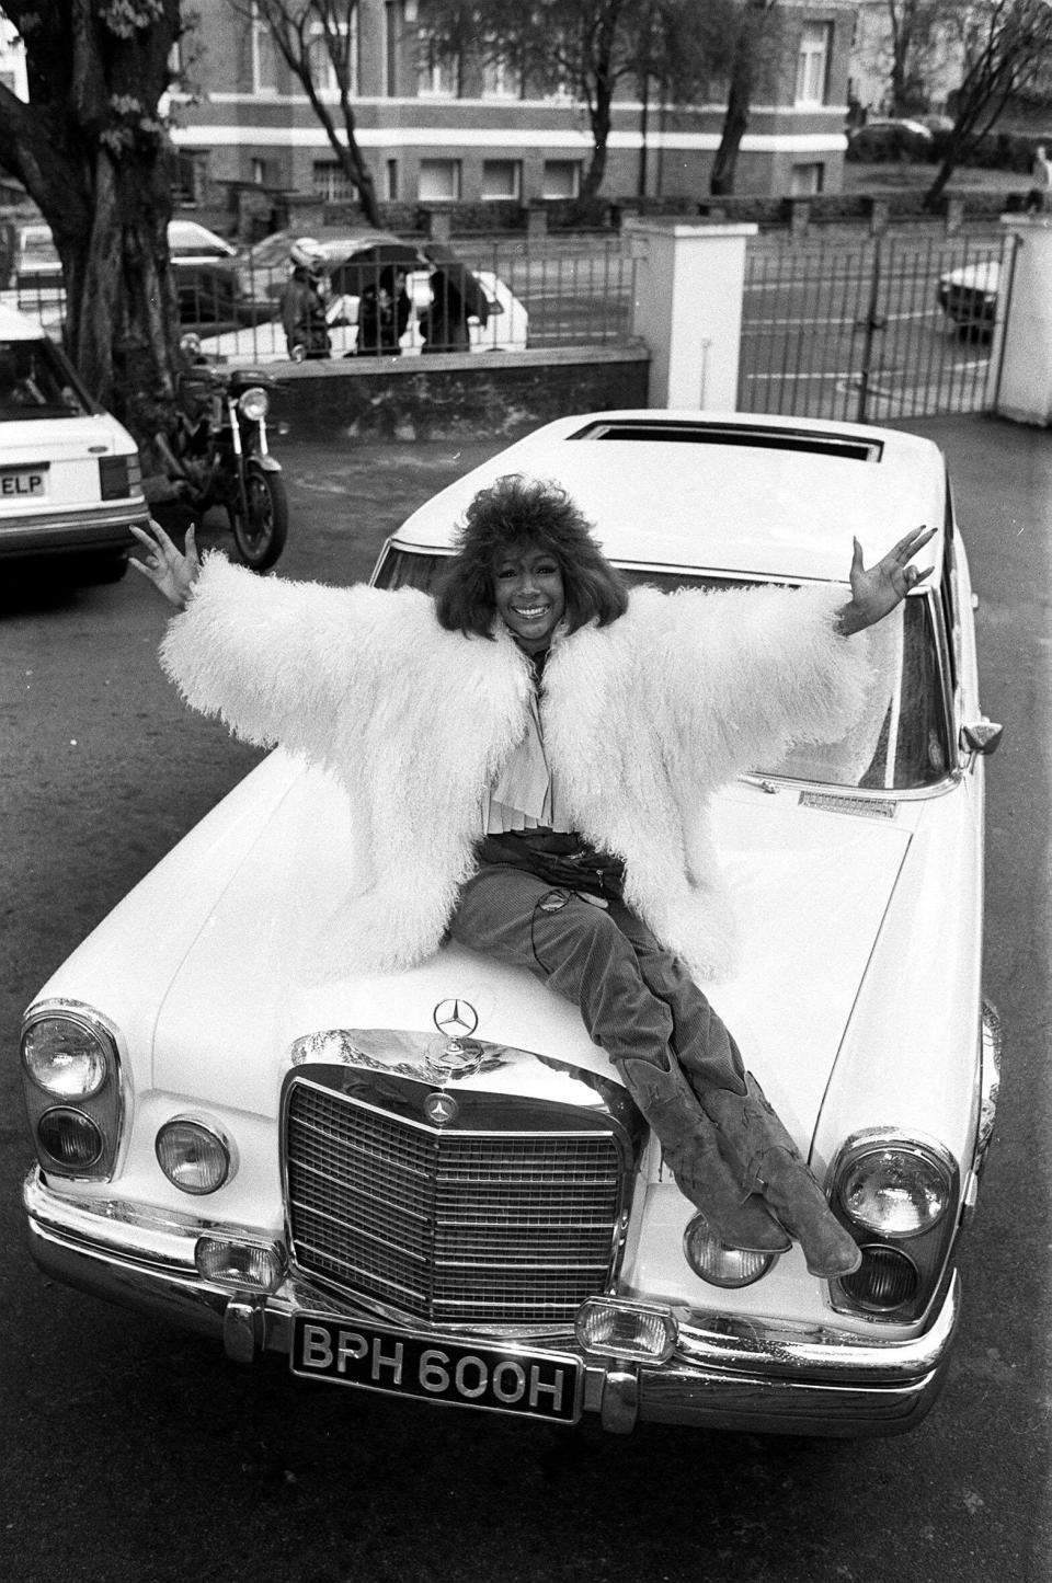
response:
<path fill-rule="evenodd" d="M 726 974 L 734 945 L 713 790 L 791 742 L 840 739 L 865 701 L 870 636 L 835 632 L 844 600 L 637 589 L 619 621 L 553 644 L 542 720 L 561 799 L 624 858 L 626 901 L 699 978 Z M 526 727 L 531 673 L 509 633 L 444 632 L 414 589 L 263 579 L 211 554 L 162 660 L 195 709 L 347 790 L 344 967 L 431 955 L 474 869 L 483 788 Z"/>

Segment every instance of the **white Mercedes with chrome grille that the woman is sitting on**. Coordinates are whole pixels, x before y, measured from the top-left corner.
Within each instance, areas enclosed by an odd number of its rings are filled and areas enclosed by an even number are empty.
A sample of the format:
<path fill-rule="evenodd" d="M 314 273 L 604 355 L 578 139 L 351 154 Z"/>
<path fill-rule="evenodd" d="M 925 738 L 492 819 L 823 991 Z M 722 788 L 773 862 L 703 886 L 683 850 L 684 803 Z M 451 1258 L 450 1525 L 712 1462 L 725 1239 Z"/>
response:
<path fill-rule="evenodd" d="M 33 1257 L 303 1380 L 612 1431 L 909 1429 L 951 1357 L 1000 1048 L 981 986 L 1000 727 L 943 454 L 810 419 L 569 416 L 415 511 L 374 583 L 429 589 L 505 472 L 559 480 L 664 589 L 846 583 L 852 535 L 875 559 L 936 529 L 884 697 L 846 741 L 756 765 L 715 818 L 745 967 L 708 993 L 862 1268 L 827 1282 L 795 1246 L 715 1239 L 575 1007 L 518 969 L 447 943 L 314 981 L 304 931 L 352 836 L 334 782 L 282 750 L 25 1013 Z"/>

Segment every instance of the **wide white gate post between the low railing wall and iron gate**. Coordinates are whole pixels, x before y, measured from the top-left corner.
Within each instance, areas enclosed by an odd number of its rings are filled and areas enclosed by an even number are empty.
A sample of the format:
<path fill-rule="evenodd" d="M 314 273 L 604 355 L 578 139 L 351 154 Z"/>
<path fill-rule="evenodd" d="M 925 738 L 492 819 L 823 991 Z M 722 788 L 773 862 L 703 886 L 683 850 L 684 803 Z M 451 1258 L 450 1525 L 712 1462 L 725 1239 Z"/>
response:
<path fill-rule="evenodd" d="M 626 218 L 635 264 L 632 334 L 650 347 L 650 405 L 734 412 L 745 244 L 757 225 Z"/>

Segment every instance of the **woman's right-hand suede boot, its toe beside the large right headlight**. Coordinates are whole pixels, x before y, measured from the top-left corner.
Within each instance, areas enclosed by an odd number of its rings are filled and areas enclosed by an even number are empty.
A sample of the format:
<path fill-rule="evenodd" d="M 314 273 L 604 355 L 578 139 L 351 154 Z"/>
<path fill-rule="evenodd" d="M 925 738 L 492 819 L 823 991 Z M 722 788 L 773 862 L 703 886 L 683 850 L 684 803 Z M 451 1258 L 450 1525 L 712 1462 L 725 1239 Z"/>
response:
<path fill-rule="evenodd" d="M 813 1276 L 835 1281 L 862 1263 L 859 1244 L 825 1201 L 813 1171 L 751 1072 L 746 1094 L 707 1089 L 700 1103 L 715 1122 L 719 1146 L 743 1190 L 762 1194 L 795 1236 Z"/>

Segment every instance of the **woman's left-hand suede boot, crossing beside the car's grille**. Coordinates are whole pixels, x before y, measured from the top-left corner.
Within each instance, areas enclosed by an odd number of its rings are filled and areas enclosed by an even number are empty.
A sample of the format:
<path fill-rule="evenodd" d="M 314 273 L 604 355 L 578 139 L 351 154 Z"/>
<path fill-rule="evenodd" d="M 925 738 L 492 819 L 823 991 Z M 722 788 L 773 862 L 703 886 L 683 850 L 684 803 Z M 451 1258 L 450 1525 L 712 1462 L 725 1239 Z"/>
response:
<path fill-rule="evenodd" d="M 680 1192 L 697 1205 L 727 1247 L 784 1254 L 792 1246 L 764 1200 L 738 1187 L 719 1152 L 716 1129 L 675 1061 L 618 1061 L 629 1094 L 661 1141 Z"/>

